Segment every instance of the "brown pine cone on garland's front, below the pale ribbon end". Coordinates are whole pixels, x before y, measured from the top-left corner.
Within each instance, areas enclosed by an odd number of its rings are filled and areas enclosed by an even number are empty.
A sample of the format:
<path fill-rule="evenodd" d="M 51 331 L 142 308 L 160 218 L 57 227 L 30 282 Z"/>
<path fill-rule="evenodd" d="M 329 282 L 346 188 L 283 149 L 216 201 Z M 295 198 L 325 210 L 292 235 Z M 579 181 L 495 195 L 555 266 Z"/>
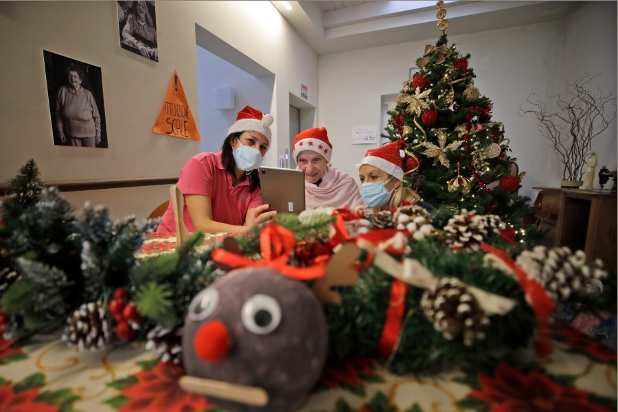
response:
<path fill-rule="evenodd" d="M 440 279 L 433 287 L 425 290 L 421 307 L 433 327 L 451 340 L 461 333 L 464 345 L 472 346 L 475 340 L 485 339 L 485 326 L 489 318 L 479 301 L 468 287 L 455 278 Z"/>

